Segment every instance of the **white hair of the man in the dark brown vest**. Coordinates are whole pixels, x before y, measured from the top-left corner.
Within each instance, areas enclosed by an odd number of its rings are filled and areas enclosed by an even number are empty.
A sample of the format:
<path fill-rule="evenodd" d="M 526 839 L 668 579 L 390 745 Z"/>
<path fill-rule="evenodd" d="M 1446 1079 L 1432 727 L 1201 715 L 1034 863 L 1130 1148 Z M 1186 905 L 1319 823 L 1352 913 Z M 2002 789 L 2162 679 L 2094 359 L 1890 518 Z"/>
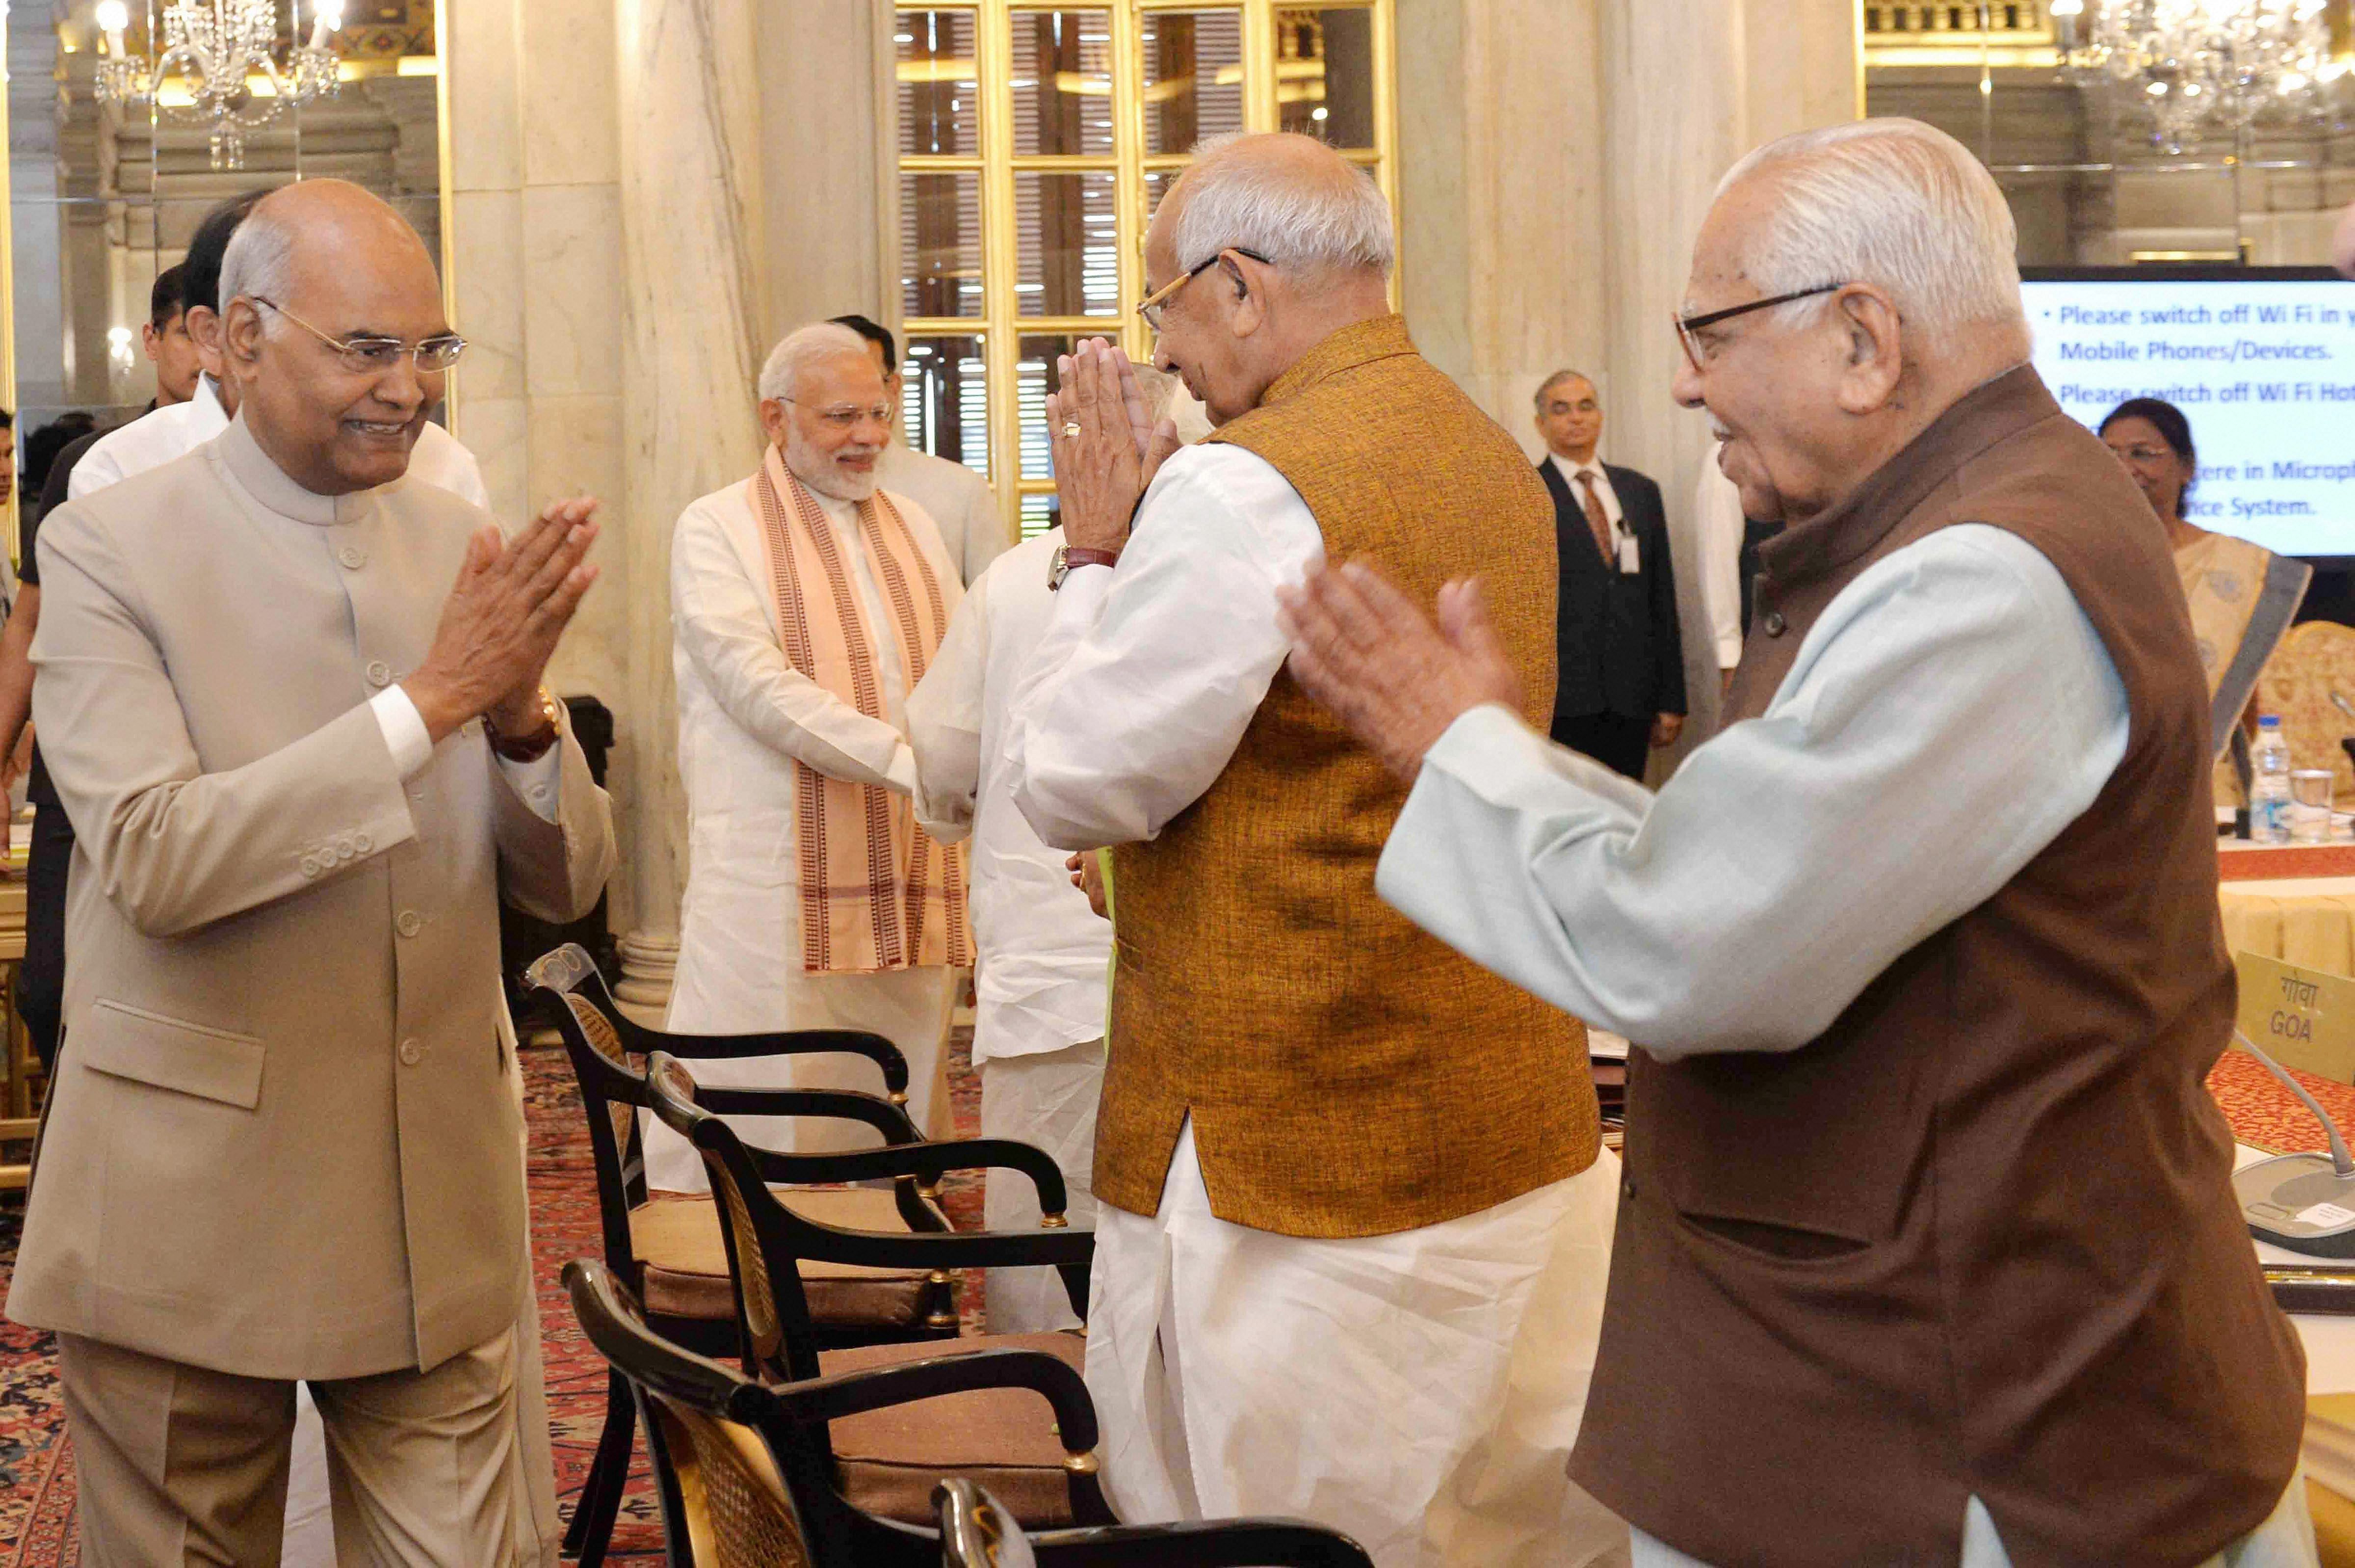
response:
<path fill-rule="evenodd" d="M 1893 118 L 1797 132 L 1726 170 L 1717 193 L 1752 174 L 1776 179 L 1773 212 L 1743 238 L 1762 294 L 1872 283 L 1931 341 L 1988 323 L 2028 330 L 2011 205 L 1945 132 Z"/>

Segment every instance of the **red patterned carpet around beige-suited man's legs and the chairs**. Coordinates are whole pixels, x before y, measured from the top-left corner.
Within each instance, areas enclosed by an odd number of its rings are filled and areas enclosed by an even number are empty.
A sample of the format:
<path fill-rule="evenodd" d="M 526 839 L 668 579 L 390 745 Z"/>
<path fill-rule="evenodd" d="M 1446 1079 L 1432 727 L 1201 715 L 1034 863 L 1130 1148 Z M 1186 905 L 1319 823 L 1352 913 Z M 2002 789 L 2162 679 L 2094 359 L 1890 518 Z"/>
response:
<path fill-rule="evenodd" d="M 963 1137 L 973 1137 L 980 1125 L 980 1083 L 968 1062 L 970 1043 L 970 1029 L 958 1029 L 949 1055 L 949 1099 Z M 556 1045 L 525 1050 L 523 1085 L 532 1140 L 532 1255 L 539 1274 L 556 1493 L 570 1519 L 605 1420 L 605 1363 L 572 1323 L 558 1274 L 568 1260 L 598 1253 L 596 1184 L 589 1168 L 589 1130 L 565 1052 Z M 942 1203 L 961 1229 L 980 1227 L 980 1177 L 947 1177 Z M 24 1208 L 12 1194 L 0 1201 L 0 1290 L 7 1288 L 16 1264 Z M 958 1288 L 970 1333 L 980 1314 L 980 1278 L 966 1278 Z M 0 1321 L 0 1568 L 80 1563 L 73 1495 L 73 1446 L 64 1436 L 54 1344 L 45 1333 Z M 662 1563 L 662 1521 L 643 1453 L 605 1561 L 615 1568 Z"/>

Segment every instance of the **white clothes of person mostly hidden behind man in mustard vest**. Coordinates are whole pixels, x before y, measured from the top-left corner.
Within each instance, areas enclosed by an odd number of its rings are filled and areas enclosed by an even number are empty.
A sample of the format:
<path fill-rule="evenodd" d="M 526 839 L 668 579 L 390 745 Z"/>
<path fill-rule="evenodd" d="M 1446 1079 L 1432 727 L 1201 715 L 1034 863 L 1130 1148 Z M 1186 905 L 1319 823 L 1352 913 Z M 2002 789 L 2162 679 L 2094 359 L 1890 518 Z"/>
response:
<path fill-rule="evenodd" d="M 1069 1220 L 1095 1224 L 1095 1107 L 1104 1083 L 1104 975 L 1112 923 L 1072 885 L 1015 808 L 1006 709 L 1046 636 L 1055 596 L 1046 574 L 1062 530 L 999 556 L 956 607 L 930 673 L 907 699 L 916 746 L 916 817 L 944 843 L 970 833 L 975 1015 L 982 1137 L 1013 1137 L 1055 1156 Z M 991 1170 L 982 1217 L 994 1231 L 1034 1229 L 1039 1189 Z M 1053 1269 L 991 1269 L 989 1330 L 1076 1328 Z"/>

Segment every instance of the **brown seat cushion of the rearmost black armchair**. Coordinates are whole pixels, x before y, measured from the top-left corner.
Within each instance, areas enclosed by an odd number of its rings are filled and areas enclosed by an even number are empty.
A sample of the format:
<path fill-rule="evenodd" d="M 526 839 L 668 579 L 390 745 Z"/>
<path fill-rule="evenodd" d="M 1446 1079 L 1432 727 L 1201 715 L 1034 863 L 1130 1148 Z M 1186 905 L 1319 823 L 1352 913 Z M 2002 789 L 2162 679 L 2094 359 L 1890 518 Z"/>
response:
<path fill-rule="evenodd" d="M 874 1187 L 772 1187 L 787 1208 L 845 1231 L 907 1234 L 890 1191 Z M 933 1212 L 940 1212 L 937 1208 Z M 947 1220 L 942 1220 L 947 1224 Z M 645 1264 L 645 1309 L 674 1318 L 728 1321 L 735 1288 L 709 1194 L 655 1194 L 629 1210 L 629 1245 Z M 923 1269 L 803 1262 L 810 1321 L 829 1328 L 916 1328 L 928 1311 Z"/>

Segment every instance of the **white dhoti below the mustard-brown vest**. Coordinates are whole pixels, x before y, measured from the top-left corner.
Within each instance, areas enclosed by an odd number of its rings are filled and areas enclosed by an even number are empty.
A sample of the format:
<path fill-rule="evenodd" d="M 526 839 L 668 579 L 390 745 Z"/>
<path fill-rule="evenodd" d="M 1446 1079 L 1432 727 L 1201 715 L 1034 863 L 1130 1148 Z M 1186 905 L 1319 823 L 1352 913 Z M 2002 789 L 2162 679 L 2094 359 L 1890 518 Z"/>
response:
<path fill-rule="evenodd" d="M 1210 1215 L 1192 1123 L 1161 1212 L 1102 1208 L 1088 1394 L 1133 1523 L 1293 1514 L 1380 1568 L 1625 1563 L 1566 1474 L 1618 1156 L 1446 1224 L 1314 1241 Z"/>

